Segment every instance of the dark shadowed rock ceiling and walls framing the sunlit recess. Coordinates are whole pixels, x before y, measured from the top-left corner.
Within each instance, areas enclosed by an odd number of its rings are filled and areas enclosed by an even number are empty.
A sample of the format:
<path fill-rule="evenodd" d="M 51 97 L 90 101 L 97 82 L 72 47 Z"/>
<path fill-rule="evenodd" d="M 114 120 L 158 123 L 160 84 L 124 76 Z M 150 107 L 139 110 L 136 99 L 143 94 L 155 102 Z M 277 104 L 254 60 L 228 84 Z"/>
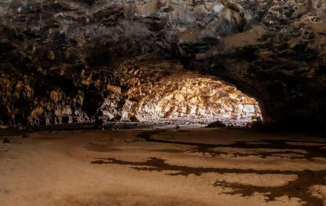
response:
<path fill-rule="evenodd" d="M 87 119 L 108 96 L 111 114 L 129 98 L 117 90 L 181 62 L 257 99 L 265 123 L 324 122 L 325 9 L 325 0 L 2 0 L 1 120 Z"/>

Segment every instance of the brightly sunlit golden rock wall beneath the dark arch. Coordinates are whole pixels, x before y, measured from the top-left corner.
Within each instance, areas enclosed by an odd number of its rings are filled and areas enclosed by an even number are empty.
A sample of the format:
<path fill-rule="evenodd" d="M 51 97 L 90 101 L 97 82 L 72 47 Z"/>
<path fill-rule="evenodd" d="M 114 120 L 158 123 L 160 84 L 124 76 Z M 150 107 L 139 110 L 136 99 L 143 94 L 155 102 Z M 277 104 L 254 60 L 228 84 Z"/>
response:
<path fill-rule="evenodd" d="M 182 72 L 182 77 L 180 76 Z M 128 91 L 127 114 L 137 113 L 146 120 L 218 118 L 252 121 L 261 116 L 258 102 L 213 76 L 171 71 L 159 82 Z"/>

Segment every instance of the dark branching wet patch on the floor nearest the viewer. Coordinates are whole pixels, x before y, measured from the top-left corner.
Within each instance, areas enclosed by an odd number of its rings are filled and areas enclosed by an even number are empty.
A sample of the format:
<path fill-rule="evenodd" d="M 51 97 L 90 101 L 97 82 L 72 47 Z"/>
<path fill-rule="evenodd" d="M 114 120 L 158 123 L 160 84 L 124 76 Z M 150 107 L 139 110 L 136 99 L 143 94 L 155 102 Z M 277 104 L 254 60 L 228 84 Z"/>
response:
<path fill-rule="evenodd" d="M 220 186 L 222 188 L 231 188 L 231 192 L 225 192 L 226 194 L 242 194 L 243 196 L 253 195 L 254 192 L 266 193 L 265 196 L 269 198 L 269 201 L 274 200 L 276 197 L 283 195 L 288 195 L 289 197 L 299 197 L 303 201 L 308 203 L 313 203 L 312 205 L 322 205 L 322 200 L 311 196 L 310 187 L 315 185 L 326 185 L 325 178 L 326 170 L 323 171 L 278 171 L 278 170 L 243 170 L 243 169 L 227 169 L 227 168 L 195 168 L 187 166 L 170 165 L 165 163 L 165 160 L 150 157 L 146 162 L 130 162 L 117 160 L 114 158 L 96 158 L 97 160 L 92 161 L 92 164 L 119 164 L 131 166 L 130 168 L 137 171 L 175 171 L 168 173 L 168 175 L 201 175 L 206 172 L 216 172 L 219 174 L 225 173 L 236 173 L 236 174 L 294 174 L 297 175 L 297 180 L 290 181 L 285 186 L 280 187 L 257 187 L 249 184 L 239 184 L 239 183 L 227 183 L 219 182 L 215 183 L 215 186 Z M 144 167 L 147 166 L 147 167 Z"/>

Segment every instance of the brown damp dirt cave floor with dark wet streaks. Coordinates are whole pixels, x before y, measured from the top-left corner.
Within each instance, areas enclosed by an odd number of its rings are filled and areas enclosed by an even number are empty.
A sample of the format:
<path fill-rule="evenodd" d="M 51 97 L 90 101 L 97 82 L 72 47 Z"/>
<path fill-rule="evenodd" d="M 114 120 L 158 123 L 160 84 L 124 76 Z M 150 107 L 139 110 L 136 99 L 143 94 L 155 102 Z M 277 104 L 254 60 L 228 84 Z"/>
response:
<path fill-rule="evenodd" d="M 325 138 L 189 127 L 0 140 L 0 206 L 326 206 Z"/>

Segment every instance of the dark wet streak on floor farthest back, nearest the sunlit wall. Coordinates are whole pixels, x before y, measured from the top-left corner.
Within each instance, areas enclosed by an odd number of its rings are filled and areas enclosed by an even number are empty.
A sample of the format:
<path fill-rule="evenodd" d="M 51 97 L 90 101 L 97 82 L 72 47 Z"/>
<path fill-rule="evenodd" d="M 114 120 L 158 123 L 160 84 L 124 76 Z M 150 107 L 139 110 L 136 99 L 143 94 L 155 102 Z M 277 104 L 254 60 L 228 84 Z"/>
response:
<path fill-rule="evenodd" d="M 285 140 L 285 139 L 261 139 L 259 141 L 236 141 L 235 143 L 230 144 L 205 144 L 197 142 L 180 142 L 180 141 L 169 141 L 169 137 L 166 137 L 166 140 L 155 139 L 151 136 L 153 135 L 164 135 L 166 130 L 154 130 L 154 131 L 145 131 L 137 137 L 143 138 L 148 142 L 158 142 L 158 143 L 168 143 L 168 144 L 181 144 L 188 146 L 196 146 L 195 149 L 184 151 L 186 153 L 201 153 L 203 155 L 218 156 L 220 154 L 228 154 L 229 152 L 214 151 L 213 148 L 239 148 L 239 149 L 272 149 L 272 150 L 282 150 L 280 152 L 259 152 L 256 155 L 259 155 L 262 158 L 267 158 L 268 156 L 283 155 L 283 154 L 297 154 L 288 156 L 290 159 L 308 159 L 311 160 L 315 157 L 326 158 L 326 153 L 324 151 L 324 146 L 326 142 L 321 141 L 308 141 L 308 140 Z M 188 132 L 187 130 L 179 130 L 177 132 Z M 171 137 L 174 137 L 169 131 L 168 134 Z M 254 144 L 253 144 L 254 143 Z M 293 151 L 306 151 L 306 152 L 293 152 Z M 243 153 L 233 153 L 234 156 L 248 156 L 255 155 L 243 154 Z M 304 155 L 304 156 L 302 156 Z M 283 155 L 284 156 L 284 155 Z"/>

